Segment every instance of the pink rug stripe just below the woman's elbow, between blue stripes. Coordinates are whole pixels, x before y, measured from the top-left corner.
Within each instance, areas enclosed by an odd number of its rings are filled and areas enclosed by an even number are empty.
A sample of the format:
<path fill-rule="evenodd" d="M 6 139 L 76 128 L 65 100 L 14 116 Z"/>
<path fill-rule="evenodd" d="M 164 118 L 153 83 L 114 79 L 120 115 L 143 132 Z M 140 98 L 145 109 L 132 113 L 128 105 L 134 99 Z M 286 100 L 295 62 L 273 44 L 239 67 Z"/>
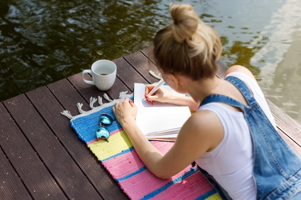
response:
<path fill-rule="evenodd" d="M 172 178 L 169 178 L 167 180 L 163 180 L 156 177 L 152 172 L 146 169 L 141 173 L 138 173 L 136 175 L 131 176 L 128 179 L 120 181 L 119 185 L 121 189 L 126 188 L 126 193 L 130 198 L 132 199 L 142 198 L 147 193 L 150 193 L 166 185 L 168 182 L 179 177 L 180 175 L 183 175 L 185 172 L 190 170 L 190 167 L 191 166 L 186 167 L 183 171 L 181 171 L 177 175 L 174 175 Z"/>

